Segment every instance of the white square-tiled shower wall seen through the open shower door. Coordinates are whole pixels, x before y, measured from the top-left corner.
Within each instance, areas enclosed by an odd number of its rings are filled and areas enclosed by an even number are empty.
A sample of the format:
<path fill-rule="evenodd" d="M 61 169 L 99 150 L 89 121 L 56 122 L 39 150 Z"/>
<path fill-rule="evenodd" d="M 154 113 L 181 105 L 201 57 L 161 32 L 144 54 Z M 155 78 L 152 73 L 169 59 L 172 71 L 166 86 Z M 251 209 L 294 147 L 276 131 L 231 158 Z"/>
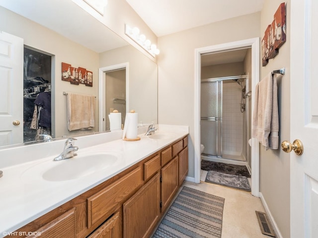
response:
<path fill-rule="evenodd" d="M 243 113 L 240 112 L 240 100 L 239 84 L 223 83 L 223 155 L 241 155 L 242 153 Z"/>

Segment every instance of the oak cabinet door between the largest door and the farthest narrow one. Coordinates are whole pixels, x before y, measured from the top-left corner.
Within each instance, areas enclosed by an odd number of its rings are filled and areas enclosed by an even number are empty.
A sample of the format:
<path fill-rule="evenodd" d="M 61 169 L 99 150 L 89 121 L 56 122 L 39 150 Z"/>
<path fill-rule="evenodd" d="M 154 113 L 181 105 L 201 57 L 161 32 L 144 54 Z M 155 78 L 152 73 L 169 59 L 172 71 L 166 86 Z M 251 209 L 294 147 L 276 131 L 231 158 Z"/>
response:
<path fill-rule="evenodd" d="M 178 179 L 178 156 L 176 156 L 161 169 L 161 212 L 166 209 L 177 191 Z"/>

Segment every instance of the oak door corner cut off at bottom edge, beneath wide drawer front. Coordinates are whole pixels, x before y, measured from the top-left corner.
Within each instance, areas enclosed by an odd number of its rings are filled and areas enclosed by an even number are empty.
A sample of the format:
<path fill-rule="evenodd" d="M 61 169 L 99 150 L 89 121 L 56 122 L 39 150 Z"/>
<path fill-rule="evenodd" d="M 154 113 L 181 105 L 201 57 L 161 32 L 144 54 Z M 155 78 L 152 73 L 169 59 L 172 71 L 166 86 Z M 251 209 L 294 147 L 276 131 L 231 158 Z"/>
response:
<path fill-rule="evenodd" d="M 117 212 L 87 238 L 119 238 L 119 222 L 119 212 Z"/>

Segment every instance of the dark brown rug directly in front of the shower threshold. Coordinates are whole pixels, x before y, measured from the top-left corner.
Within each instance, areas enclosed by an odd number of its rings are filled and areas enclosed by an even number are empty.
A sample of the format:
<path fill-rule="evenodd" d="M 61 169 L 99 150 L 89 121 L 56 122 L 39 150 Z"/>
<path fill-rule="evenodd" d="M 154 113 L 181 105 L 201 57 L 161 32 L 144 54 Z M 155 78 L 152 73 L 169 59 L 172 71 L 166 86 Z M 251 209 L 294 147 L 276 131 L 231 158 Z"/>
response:
<path fill-rule="evenodd" d="M 201 161 L 201 169 L 205 171 L 216 171 L 229 175 L 245 176 L 250 178 L 250 174 L 244 165 L 231 165 L 207 160 Z"/>

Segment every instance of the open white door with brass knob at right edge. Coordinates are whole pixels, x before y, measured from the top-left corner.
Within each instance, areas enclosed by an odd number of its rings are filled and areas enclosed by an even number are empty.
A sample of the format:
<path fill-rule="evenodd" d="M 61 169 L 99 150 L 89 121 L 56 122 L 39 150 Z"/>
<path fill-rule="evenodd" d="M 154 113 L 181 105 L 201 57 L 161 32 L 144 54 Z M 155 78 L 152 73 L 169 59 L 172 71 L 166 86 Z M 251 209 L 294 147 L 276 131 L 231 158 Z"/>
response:
<path fill-rule="evenodd" d="M 291 238 L 318 237 L 318 1 L 291 1 Z M 288 13 L 287 13 L 288 14 Z M 283 140 L 288 138 L 282 138 Z"/>

